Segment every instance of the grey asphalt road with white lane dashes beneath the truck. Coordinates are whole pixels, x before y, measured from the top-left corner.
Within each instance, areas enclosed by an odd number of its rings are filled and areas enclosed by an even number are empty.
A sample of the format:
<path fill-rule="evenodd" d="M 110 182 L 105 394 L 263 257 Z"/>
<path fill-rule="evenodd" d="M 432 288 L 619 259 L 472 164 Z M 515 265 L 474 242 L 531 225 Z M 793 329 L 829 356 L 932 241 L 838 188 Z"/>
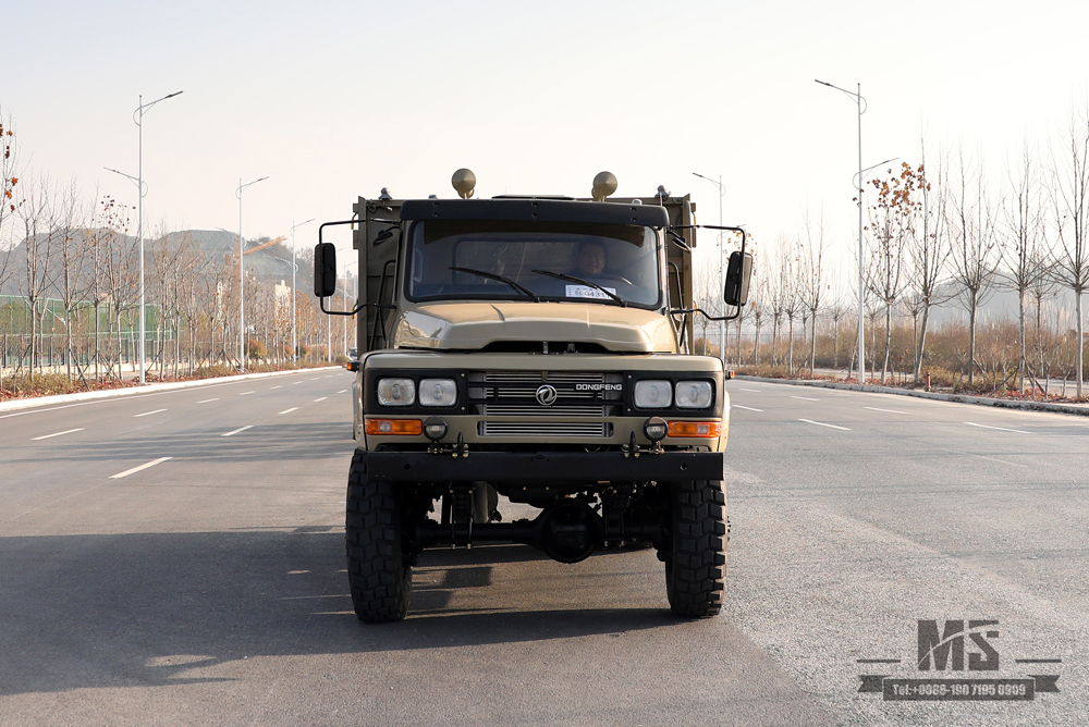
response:
<path fill-rule="evenodd" d="M 1085 724 L 1085 419 L 733 382 L 721 617 L 673 620 L 649 551 L 493 546 L 428 552 L 411 617 L 365 626 L 350 384 L 0 415 L 0 725 Z M 918 619 L 998 620 L 1000 670 L 920 673 Z M 1060 692 L 895 702 L 859 675 Z"/>

